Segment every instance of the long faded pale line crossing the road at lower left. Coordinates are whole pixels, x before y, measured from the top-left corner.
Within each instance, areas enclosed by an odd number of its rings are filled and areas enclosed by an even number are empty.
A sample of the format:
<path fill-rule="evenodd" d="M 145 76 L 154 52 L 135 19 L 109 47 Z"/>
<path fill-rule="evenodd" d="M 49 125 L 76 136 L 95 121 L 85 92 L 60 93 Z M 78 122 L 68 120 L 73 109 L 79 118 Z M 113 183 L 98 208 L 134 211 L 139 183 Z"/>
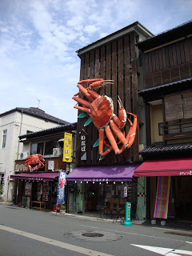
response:
<path fill-rule="evenodd" d="M 90 249 L 86 249 L 86 248 L 83 248 L 80 246 L 71 245 L 70 243 L 60 242 L 60 241 L 57 241 L 57 240 L 54 240 L 51 238 L 45 238 L 38 234 L 30 234 L 30 233 L 22 231 L 22 230 L 15 230 L 9 226 L 0 225 L 0 230 L 5 230 L 10 233 L 19 234 L 19 235 L 22 235 L 23 237 L 34 239 L 38 242 L 45 242 L 51 246 L 58 246 L 63 249 L 66 249 L 66 250 L 72 250 L 74 252 L 77 252 L 78 254 L 84 254 L 84 255 L 88 255 L 88 256 L 98 256 L 98 255 L 99 256 L 113 256 L 111 254 L 105 254 L 105 253 L 99 252 L 97 250 L 90 250 Z"/>

